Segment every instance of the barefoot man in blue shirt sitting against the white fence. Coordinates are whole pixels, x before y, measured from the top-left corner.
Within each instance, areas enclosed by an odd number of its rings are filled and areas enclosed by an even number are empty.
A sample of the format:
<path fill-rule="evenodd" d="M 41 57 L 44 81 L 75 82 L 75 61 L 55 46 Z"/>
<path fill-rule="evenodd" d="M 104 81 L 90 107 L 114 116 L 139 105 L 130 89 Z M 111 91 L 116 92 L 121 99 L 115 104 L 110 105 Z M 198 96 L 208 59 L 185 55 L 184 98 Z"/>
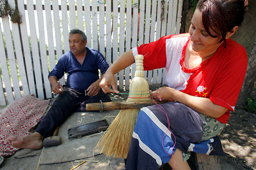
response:
<path fill-rule="evenodd" d="M 69 32 L 69 52 L 66 52 L 49 73 L 52 92 L 59 97 L 43 118 L 35 132 L 23 138 L 10 136 L 7 140 L 15 148 L 40 149 L 43 138 L 52 136 L 56 127 L 62 124 L 71 113 L 85 111 L 87 103 L 111 101 L 99 87 L 98 70 L 104 74 L 108 64 L 97 50 L 86 47 L 87 37 L 78 29 Z M 58 83 L 64 73 L 68 73 L 67 85 Z"/>

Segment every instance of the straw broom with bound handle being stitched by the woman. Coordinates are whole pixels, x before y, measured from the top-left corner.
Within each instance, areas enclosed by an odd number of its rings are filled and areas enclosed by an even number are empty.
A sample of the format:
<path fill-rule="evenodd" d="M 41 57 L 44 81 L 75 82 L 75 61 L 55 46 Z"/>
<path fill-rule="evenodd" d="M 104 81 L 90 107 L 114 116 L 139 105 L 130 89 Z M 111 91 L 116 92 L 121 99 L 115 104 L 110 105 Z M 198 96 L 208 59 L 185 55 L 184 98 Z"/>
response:
<path fill-rule="evenodd" d="M 135 56 L 135 77 L 130 82 L 127 102 L 149 101 L 149 84 L 144 78 L 143 55 Z M 102 135 L 95 149 L 108 157 L 127 158 L 130 140 L 140 109 L 120 110 L 115 120 Z"/>

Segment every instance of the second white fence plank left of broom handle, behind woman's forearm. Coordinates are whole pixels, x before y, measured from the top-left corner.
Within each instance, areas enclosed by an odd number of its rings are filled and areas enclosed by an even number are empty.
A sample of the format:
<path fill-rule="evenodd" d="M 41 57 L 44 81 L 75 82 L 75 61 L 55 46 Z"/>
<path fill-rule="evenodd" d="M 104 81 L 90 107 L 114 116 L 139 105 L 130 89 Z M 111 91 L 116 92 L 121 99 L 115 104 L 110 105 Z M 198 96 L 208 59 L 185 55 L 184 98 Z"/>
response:
<path fill-rule="evenodd" d="M 124 31 L 125 31 L 125 0 L 120 1 L 120 27 L 119 27 L 119 56 L 124 53 Z M 124 89 L 124 70 L 121 70 L 119 73 L 119 90 Z"/>

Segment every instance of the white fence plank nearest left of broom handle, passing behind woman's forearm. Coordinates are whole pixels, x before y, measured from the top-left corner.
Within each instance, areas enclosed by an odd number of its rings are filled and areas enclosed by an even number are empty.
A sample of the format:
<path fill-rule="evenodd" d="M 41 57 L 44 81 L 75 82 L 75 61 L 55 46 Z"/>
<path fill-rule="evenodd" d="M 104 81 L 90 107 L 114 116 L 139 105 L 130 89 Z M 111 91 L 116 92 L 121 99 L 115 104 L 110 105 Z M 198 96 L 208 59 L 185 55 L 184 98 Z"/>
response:
<path fill-rule="evenodd" d="M 126 1 L 126 51 L 130 50 L 130 38 L 131 38 L 131 24 L 132 24 L 132 1 Z M 125 69 L 125 89 L 129 90 L 130 86 L 130 67 Z"/>

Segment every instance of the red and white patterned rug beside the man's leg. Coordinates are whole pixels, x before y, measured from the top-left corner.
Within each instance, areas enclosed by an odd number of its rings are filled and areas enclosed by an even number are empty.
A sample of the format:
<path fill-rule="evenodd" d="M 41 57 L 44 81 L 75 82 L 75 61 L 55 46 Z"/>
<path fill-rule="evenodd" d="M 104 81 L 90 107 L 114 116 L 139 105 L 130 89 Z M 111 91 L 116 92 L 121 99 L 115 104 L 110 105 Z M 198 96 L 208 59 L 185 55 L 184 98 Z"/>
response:
<path fill-rule="evenodd" d="M 24 137 L 29 129 L 37 125 L 49 104 L 49 100 L 36 98 L 34 95 L 21 97 L 0 110 L 0 155 L 12 155 L 18 148 L 13 148 L 7 141 L 10 135 Z"/>

